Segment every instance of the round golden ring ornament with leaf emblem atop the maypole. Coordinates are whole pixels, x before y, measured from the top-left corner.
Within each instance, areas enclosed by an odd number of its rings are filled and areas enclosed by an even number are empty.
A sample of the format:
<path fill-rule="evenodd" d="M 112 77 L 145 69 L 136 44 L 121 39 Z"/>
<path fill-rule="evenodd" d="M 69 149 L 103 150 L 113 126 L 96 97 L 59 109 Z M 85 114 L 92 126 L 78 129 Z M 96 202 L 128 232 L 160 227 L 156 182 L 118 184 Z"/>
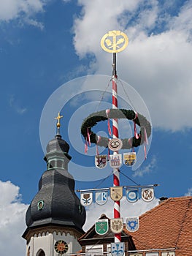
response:
<path fill-rule="evenodd" d="M 101 38 L 101 48 L 108 53 L 119 53 L 128 45 L 128 37 L 120 30 L 112 30 Z"/>

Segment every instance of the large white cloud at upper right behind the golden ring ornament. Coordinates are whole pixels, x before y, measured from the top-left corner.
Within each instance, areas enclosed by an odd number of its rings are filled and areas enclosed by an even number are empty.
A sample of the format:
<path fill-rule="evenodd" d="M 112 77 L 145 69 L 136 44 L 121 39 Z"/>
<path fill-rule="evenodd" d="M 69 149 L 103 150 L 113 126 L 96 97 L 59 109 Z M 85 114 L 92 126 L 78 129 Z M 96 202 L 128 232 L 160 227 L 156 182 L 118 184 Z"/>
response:
<path fill-rule="evenodd" d="M 110 75 L 112 56 L 101 49 L 100 39 L 114 29 L 128 34 L 128 48 L 118 53 L 118 77 L 142 95 L 154 127 L 191 128 L 192 1 L 186 1 L 177 16 L 155 0 L 79 4 L 82 14 L 74 20 L 77 54 L 94 54 L 96 73 Z"/>

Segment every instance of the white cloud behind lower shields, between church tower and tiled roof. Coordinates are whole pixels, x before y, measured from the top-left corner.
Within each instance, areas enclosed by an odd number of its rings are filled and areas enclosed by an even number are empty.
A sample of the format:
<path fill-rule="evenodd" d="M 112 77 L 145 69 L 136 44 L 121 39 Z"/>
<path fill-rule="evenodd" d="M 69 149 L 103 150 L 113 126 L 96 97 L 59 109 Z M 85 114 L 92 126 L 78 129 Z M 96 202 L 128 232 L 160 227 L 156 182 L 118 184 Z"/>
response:
<path fill-rule="evenodd" d="M 88 230 L 92 227 L 96 220 L 101 217 L 101 214 L 105 214 L 107 217 L 113 218 L 113 203 L 114 202 L 109 198 L 108 202 L 103 206 L 99 206 L 96 203 L 92 203 L 91 206 L 88 206 L 86 208 L 87 219 L 83 229 Z M 142 199 L 139 199 L 137 203 L 129 203 L 126 200 L 126 197 L 123 197 L 122 200 L 120 200 L 120 216 L 123 217 L 125 222 L 126 217 L 139 217 L 141 214 L 144 214 L 155 206 L 158 206 L 157 198 L 154 198 L 153 201 L 149 203 L 146 203 Z"/>

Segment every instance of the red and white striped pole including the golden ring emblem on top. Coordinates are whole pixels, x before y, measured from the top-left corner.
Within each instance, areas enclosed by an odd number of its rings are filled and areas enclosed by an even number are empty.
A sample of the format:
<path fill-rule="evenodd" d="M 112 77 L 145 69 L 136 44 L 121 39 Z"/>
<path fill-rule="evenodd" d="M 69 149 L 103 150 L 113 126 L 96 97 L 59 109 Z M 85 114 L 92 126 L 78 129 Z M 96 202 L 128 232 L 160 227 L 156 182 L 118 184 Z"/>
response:
<path fill-rule="evenodd" d="M 113 53 L 112 62 L 112 109 L 118 109 L 118 84 L 116 70 L 116 53 L 124 50 L 128 45 L 128 37 L 121 31 L 109 31 L 101 39 L 101 47 L 110 53 Z M 112 119 L 112 138 L 118 139 L 118 118 Z M 118 151 L 113 152 L 113 156 L 118 155 Z M 118 168 L 113 168 L 113 187 L 120 186 L 120 171 Z M 114 201 L 114 218 L 120 218 L 120 200 Z M 115 233 L 115 243 L 121 241 L 121 233 Z"/>

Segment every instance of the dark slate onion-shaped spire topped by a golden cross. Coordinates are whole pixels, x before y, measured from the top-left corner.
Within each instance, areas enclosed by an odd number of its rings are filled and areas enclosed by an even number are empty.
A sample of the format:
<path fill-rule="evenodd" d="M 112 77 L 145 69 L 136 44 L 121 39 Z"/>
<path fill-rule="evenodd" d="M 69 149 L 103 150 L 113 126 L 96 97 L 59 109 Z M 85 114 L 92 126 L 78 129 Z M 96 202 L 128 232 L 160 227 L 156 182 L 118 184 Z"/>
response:
<path fill-rule="evenodd" d="M 26 212 L 26 225 L 35 228 L 45 225 L 63 225 L 82 231 L 85 208 L 74 193 L 74 178 L 68 173 L 69 144 L 60 135 L 58 114 L 57 135 L 47 145 L 47 170 L 39 180 L 39 192 Z M 58 126 L 59 124 L 59 126 Z"/>

